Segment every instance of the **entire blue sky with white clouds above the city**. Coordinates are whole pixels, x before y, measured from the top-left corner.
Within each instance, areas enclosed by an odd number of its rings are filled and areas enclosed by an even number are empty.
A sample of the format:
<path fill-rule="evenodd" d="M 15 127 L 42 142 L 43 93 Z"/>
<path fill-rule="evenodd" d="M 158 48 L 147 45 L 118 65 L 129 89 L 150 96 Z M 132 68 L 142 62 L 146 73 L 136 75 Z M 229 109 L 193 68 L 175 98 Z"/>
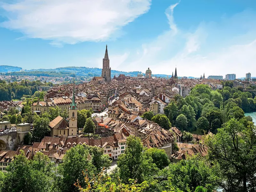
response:
<path fill-rule="evenodd" d="M 0 65 L 256 76 L 255 0 L 0 0 Z"/>

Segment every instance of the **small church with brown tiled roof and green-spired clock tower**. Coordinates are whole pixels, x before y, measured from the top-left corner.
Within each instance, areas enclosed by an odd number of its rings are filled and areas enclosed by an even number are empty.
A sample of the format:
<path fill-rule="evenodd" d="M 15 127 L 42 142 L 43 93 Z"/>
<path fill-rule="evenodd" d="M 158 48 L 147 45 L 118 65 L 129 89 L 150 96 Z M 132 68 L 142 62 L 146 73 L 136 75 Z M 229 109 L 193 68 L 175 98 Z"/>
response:
<path fill-rule="evenodd" d="M 69 107 L 69 122 L 63 117 L 57 116 L 53 119 L 49 126 L 51 129 L 51 137 L 74 137 L 77 135 L 77 105 L 75 102 L 75 80 L 73 85 L 73 98 Z"/>

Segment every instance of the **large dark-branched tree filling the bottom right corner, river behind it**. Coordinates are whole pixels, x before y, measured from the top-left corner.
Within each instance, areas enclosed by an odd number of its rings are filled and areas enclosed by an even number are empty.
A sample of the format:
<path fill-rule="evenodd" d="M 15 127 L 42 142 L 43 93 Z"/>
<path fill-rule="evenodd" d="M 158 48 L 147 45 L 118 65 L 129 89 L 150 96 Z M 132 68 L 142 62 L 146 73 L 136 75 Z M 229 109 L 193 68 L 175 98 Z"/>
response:
<path fill-rule="evenodd" d="M 232 118 L 206 140 L 213 170 L 221 178 L 218 182 L 224 191 L 256 190 L 255 132 L 252 122 L 244 127 Z"/>

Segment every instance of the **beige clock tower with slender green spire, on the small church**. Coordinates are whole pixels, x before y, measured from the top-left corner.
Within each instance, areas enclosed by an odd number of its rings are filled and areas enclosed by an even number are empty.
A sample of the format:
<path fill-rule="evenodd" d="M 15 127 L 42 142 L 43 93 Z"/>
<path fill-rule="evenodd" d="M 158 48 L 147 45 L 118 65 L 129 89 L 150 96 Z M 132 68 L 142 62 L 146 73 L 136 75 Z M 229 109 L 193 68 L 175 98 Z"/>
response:
<path fill-rule="evenodd" d="M 75 79 L 73 84 L 73 99 L 69 108 L 69 131 L 68 136 L 76 136 L 77 135 L 77 105 L 75 102 Z"/>

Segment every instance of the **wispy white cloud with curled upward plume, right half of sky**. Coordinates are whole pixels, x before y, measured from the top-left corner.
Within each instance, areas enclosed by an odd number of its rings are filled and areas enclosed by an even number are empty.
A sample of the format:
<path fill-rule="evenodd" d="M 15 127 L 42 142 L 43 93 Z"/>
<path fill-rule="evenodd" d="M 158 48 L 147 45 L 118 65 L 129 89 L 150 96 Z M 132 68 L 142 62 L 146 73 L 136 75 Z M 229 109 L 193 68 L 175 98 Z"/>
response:
<path fill-rule="evenodd" d="M 196 29 L 184 31 L 177 28 L 173 18 L 178 4 L 169 6 L 165 12 L 170 30 L 143 44 L 139 51 L 136 49 L 141 54 L 124 61 L 123 70 L 134 68 L 144 72 L 150 67 L 153 74 L 171 75 L 177 66 L 178 76 L 235 73 L 244 77 L 248 72 L 256 76 L 255 13 L 245 10 L 221 18 L 218 23 L 201 22 Z"/>

